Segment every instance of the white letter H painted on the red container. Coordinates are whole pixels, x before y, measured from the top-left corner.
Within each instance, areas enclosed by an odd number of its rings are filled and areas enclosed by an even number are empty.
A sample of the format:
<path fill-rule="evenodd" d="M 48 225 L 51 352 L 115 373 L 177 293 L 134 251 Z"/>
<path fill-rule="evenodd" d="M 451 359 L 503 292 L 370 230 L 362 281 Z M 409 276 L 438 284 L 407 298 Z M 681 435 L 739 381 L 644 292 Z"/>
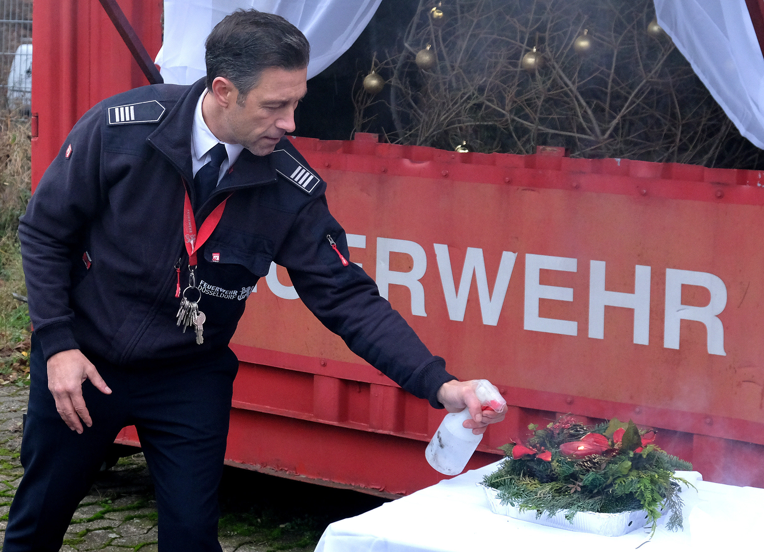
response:
<path fill-rule="evenodd" d="M 634 309 L 634 343 L 647 345 L 650 335 L 650 267 L 634 268 L 634 293 L 605 290 L 605 261 L 590 261 L 589 337 L 604 339 L 605 305 Z"/>

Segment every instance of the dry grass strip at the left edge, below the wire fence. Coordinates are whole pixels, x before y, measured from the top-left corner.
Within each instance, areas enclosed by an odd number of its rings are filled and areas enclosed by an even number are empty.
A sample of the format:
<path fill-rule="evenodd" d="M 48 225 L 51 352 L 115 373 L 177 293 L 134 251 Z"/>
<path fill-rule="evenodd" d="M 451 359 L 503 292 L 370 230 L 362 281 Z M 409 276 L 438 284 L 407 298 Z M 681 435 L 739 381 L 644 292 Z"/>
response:
<path fill-rule="evenodd" d="M 29 121 L 0 119 L 0 385 L 28 382 L 29 311 L 13 294 L 26 295 L 18 218 L 31 195 Z"/>

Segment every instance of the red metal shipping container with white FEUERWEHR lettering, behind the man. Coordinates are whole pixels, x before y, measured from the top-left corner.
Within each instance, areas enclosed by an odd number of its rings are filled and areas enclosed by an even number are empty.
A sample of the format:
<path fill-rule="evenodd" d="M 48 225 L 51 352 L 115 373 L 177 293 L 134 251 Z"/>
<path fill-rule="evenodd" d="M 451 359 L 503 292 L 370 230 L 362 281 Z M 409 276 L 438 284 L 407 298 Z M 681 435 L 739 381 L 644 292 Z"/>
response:
<path fill-rule="evenodd" d="M 154 55 L 159 2 L 121 5 Z M 35 8 L 34 182 L 89 106 L 145 83 L 98 2 Z M 370 135 L 295 144 L 329 182 L 351 261 L 455 375 L 507 398 L 468 467 L 572 412 L 658 427 L 705 479 L 764 486 L 761 173 Z M 231 347 L 227 463 L 380 495 L 442 479 L 424 448 L 445 413 L 349 352 L 285 271 L 258 284 Z"/>

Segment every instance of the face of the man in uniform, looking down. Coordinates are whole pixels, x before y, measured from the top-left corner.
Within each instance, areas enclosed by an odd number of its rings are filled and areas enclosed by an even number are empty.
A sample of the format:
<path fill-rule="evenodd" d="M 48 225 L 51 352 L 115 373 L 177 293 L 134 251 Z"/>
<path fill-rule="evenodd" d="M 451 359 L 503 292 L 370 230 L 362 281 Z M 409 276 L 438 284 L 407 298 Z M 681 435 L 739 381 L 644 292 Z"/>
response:
<path fill-rule="evenodd" d="M 247 95 L 244 106 L 233 101 L 224 110 L 227 134 L 255 155 L 267 155 L 287 132 L 294 132 L 294 110 L 307 91 L 307 67 L 269 67 Z"/>

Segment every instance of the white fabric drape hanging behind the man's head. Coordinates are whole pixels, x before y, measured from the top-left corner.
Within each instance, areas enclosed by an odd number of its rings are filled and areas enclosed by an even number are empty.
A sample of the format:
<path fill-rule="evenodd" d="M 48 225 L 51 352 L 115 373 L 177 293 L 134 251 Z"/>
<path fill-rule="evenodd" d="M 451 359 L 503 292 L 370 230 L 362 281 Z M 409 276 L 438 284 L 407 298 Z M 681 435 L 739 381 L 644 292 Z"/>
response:
<path fill-rule="evenodd" d="M 277 14 L 310 43 L 308 78 L 345 53 L 382 0 L 164 0 L 164 44 L 156 63 L 165 83 L 191 84 L 205 76 L 204 41 L 238 8 Z"/>

